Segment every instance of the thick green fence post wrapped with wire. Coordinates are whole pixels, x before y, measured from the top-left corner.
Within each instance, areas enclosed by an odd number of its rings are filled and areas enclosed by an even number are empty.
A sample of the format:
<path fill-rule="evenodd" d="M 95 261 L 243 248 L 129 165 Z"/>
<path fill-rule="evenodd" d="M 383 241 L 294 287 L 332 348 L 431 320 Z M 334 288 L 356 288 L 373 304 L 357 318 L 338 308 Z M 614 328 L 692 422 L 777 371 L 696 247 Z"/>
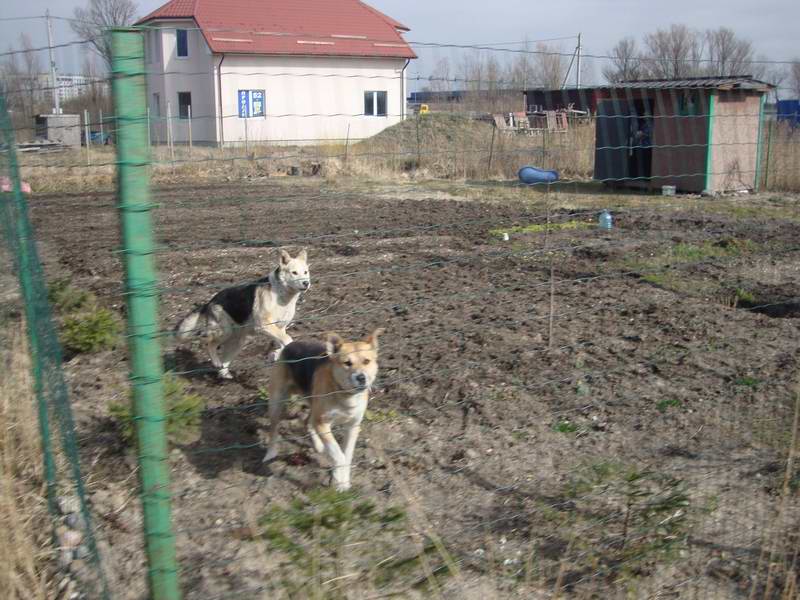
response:
<path fill-rule="evenodd" d="M 111 32 L 117 185 L 128 306 L 128 353 L 139 449 L 144 535 L 153 600 L 180 598 L 169 492 L 158 292 L 153 260 L 144 37 Z"/>

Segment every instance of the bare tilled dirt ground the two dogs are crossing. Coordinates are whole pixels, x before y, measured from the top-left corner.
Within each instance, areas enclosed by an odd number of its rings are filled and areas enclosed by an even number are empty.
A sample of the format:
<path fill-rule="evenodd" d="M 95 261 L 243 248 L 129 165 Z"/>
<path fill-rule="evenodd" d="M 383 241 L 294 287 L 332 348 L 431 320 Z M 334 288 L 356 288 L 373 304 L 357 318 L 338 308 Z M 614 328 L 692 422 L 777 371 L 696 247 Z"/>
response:
<path fill-rule="evenodd" d="M 313 178 L 155 195 L 165 331 L 265 275 L 279 245 L 310 256 L 295 339 L 387 329 L 357 493 L 334 500 L 302 403 L 285 454 L 261 463 L 263 340 L 221 383 L 202 348 L 163 338 L 167 366 L 207 400 L 197 439 L 170 454 L 185 597 L 721 599 L 790 585 L 797 198 Z M 113 196 L 31 206 L 48 275 L 124 316 Z M 611 231 L 596 226 L 606 207 Z M 108 412 L 128 394 L 124 345 L 66 369 L 112 590 L 144 598 L 135 459 Z M 302 526 L 303 499 L 312 515 L 368 502 L 400 517 L 356 507 Z"/>

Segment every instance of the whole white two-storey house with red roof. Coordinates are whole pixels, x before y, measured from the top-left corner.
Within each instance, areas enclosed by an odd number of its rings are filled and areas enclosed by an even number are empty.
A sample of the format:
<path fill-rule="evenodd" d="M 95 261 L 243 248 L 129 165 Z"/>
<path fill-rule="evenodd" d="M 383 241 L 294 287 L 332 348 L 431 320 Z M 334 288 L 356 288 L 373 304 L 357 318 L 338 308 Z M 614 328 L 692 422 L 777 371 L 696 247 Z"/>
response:
<path fill-rule="evenodd" d="M 408 28 L 359 0 L 171 0 L 145 30 L 151 136 L 302 144 L 405 118 Z M 191 115 L 191 119 L 189 116 Z"/>

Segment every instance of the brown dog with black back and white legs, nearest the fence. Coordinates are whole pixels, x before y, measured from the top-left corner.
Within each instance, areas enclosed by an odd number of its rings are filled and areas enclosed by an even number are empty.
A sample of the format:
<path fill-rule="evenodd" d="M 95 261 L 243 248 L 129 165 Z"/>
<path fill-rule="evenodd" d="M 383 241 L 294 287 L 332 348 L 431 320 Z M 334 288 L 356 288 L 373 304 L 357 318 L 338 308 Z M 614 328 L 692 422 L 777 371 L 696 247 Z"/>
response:
<path fill-rule="evenodd" d="M 269 384 L 270 440 L 264 462 L 278 456 L 278 425 L 286 400 L 307 396 L 310 412 L 306 427 L 317 452 L 333 463 L 332 482 L 337 490 L 350 488 L 353 451 L 367 410 L 367 400 L 378 375 L 378 336 L 375 330 L 363 341 L 344 341 L 335 333 L 325 343 L 292 342 L 283 348 Z M 343 429 L 342 447 L 331 431 Z"/>

